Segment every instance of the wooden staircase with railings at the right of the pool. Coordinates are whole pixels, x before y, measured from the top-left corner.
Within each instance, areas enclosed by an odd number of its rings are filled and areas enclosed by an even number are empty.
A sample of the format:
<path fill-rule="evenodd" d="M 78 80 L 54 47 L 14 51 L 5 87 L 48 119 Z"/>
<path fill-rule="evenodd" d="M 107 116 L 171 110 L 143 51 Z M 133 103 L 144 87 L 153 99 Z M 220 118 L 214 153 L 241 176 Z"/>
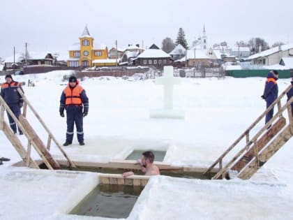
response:
<path fill-rule="evenodd" d="M 278 149 L 285 145 L 287 140 L 293 135 L 293 114 L 291 109 L 293 97 L 287 101 L 286 96 L 287 91 L 291 88 L 292 85 L 287 87 L 276 101 L 274 101 L 204 172 L 204 175 L 211 173 L 211 170 L 217 165 L 219 171 L 212 179 L 230 179 L 230 170 L 234 170 L 237 173 L 236 177 L 241 179 L 250 179 L 250 177 L 257 173 L 257 170 L 259 170 L 273 154 L 276 154 Z M 284 103 L 283 105 L 282 101 Z M 259 123 L 264 123 L 263 119 L 266 113 L 275 105 L 278 106 L 276 114 L 250 139 L 250 133 L 253 133 L 253 129 L 257 129 Z M 288 120 L 283 116 L 286 110 Z M 244 147 L 243 142 L 245 142 Z"/>

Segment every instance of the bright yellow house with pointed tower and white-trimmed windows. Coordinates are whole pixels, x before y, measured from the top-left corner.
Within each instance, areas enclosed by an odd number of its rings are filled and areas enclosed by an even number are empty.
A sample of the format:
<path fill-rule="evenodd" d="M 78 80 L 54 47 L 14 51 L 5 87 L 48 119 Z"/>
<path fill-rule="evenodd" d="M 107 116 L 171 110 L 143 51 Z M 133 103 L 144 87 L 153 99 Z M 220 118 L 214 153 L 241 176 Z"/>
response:
<path fill-rule="evenodd" d="M 80 43 L 70 47 L 67 66 L 97 66 L 93 64 L 94 60 L 107 59 L 107 47 L 96 47 L 93 40 L 86 26 L 80 36 Z"/>

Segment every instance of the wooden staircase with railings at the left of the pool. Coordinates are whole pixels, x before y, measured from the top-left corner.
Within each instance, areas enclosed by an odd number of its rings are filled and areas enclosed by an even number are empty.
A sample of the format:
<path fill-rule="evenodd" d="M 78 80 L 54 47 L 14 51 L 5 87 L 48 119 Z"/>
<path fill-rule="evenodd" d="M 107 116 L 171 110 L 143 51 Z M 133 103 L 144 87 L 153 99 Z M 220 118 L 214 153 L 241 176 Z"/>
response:
<path fill-rule="evenodd" d="M 54 135 L 52 135 L 51 131 L 47 128 L 43 120 L 40 118 L 36 110 L 34 110 L 33 106 L 29 101 L 27 100 L 26 96 L 22 93 L 22 90 L 17 89 L 17 91 L 20 93 L 22 98 L 24 99 L 24 107 L 22 115 L 17 119 L 17 117 L 13 114 L 13 112 L 10 110 L 6 102 L 3 100 L 3 98 L 0 96 L 0 104 L 1 104 L 1 112 L 0 112 L 0 130 L 5 133 L 8 140 L 10 140 L 13 147 L 15 147 L 18 154 L 20 154 L 20 157 L 22 158 L 22 161 L 26 164 L 26 166 L 30 168 L 40 168 L 38 163 L 34 161 L 31 158 L 31 145 L 36 150 L 40 158 L 42 159 L 43 163 L 45 163 L 45 166 L 47 166 L 48 169 L 54 170 L 54 169 L 60 169 L 59 163 L 53 158 L 52 154 L 50 154 L 50 145 L 51 141 L 53 140 L 57 147 L 62 152 L 63 156 L 68 161 L 68 166 L 71 168 L 75 168 L 75 164 L 73 161 L 71 161 L 66 152 L 63 151 L 61 145 L 59 145 L 59 142 L 57 142 L 56 138 L 54 138 Z M 48 133 L 48 140 L 47 140 L 47 147 L 43 143 L 43 141 L 39 138 L 36 131 L 33 130 L 33 127 L 31 124 L 29 124 L 26 115 L 27 115 L 27 107 L 31 109 L 33 112 L 33 115 L 36 116 L 38 119 L 38 122 L 43 126 L 45 131 Z M 15 123 L 17 126 L 22 130 L 24 133 L 24 136 L 28 140 L 27 149 L 22 145 L 22 142 L 19 138 L 17 138 L 17 135 L 13 133 L 13 131 L 10 129 L 8 124 L 4 120 L 4 112 L 5 110 L 9 113 L 11 117 L 15 120 Z"/>

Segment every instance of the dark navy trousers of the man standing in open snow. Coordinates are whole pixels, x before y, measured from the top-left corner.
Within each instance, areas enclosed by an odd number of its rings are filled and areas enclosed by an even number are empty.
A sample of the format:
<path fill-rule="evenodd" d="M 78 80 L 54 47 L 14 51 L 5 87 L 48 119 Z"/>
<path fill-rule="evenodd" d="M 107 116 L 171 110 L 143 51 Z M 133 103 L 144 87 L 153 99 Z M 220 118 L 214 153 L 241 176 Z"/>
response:
<path fill-rule="evenodd" d="M 66 106 L 66 117 L 67 117 L 66 142 L 73 142 L 74 124 L 76 125 L 78 142 L 84 142 L 82 106 L 79 106 L 79 105 Z"/>

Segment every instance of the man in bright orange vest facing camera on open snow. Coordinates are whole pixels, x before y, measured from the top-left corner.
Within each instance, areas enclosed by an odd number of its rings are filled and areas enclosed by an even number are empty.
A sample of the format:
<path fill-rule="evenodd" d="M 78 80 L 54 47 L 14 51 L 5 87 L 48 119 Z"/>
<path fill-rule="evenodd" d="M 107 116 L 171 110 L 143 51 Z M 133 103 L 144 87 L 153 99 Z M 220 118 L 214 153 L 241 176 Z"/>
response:
<path fill-rule="evenodd" d="M 84 145 L 84 129 L 82 126 L 83 117 L 89 112 L 89 98 L 86 91 L 80 86 L 80 82 L 75 76 L 70 76 L 67 87 L 63 90 L 60 98 L 60 116 L 64 117 L 66 109 L 67 131 L 66 142 L 63 146 L 71 145 L 73 142 L 74 123 L 76 125 L 77 140 L 80 145 Z"/>

